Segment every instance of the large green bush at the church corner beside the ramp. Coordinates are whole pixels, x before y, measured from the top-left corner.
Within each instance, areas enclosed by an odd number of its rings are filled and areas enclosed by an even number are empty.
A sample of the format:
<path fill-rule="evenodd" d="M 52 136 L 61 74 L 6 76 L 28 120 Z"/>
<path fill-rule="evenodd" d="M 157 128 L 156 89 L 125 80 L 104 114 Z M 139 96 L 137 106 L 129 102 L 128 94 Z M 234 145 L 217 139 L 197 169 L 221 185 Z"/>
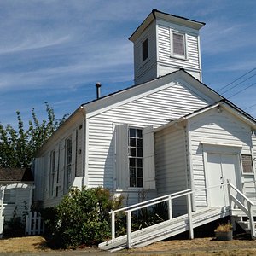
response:
<path fill-rule="evenodd" d="M 121 199 L 113 199 L 108 189 L 70 189 L 55 208 L 56 218 L 46 219 L 52 229 L 52 243 L 55 247 L 76 248 L 108 239 L 108 212 L 120 205 Z"/>

